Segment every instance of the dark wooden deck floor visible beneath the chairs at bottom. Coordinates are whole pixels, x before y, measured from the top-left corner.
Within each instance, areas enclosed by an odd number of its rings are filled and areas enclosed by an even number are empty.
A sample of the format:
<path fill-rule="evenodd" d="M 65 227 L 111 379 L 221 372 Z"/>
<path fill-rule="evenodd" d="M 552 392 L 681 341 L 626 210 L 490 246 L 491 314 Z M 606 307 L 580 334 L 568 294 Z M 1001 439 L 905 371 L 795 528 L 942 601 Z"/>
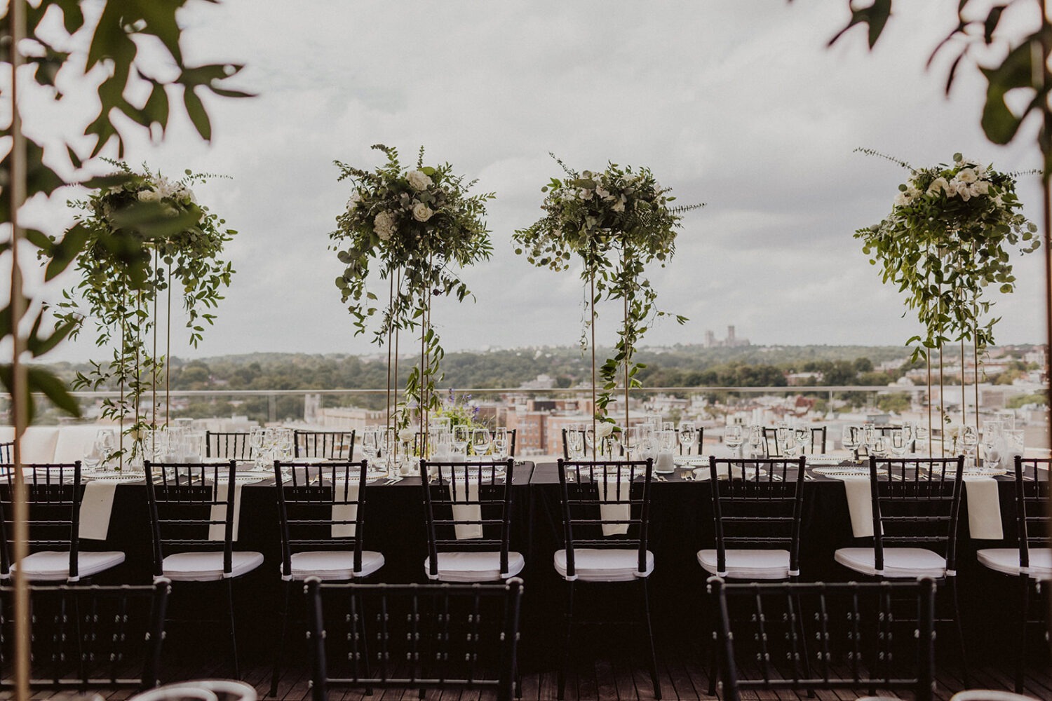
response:
<path fill-rule="evenodd" d="M 697 650 L 664 651 L 659 654 L 660 658 L 660 682 L 662 698 L 665 701 L 711 699 L 706 693 L 708 689 L 708 671 L 701 662 Z M 183 665 L 169 668 L 165 674 L 164 681 L 176 681 L 178 679 L 200 679 L 200 678 L 222 678 L 229 675 L 225 665 Z M 270 668 L 267 666 L 252 666 L 243 674 L 244 681 L 256 686 L 260 698 L 270 687 Z M 296 664 L 289 668 L 281 678 L 278 687 L 278 699 L 286 701 L 299 701 L 310 699 L 310 688 L 308 686 L 309 673 L 305 665 Z M 971 688 L 993 688 L 1012 690 L 1013 672 L 1007 668 L 991 665 L 977 665 L 970 669 Z M 554 699 L 555 672 L 542 671 L 523 675 L 523 696 L 526 701 L 540 699 Z M 964 681 L 959 667 L 942 664 L 937 674 L 936 699 L 947 700 L 955 692 L 964 688 Z M 816 692 L 820 700 L 845 701 L 855 699 L 858 696 L 866 696 L 868 689 L 857 689 L 856 694 L 851 692 Z M 1031 666 L 1028 669 L 1026 693 L 1035 699 L 1052 700 L 1052 669 L 1048 664 Z M 103 689 L 101 695 L 112 701 L 127 699 L 134 694 L 128 690 Z M 885 693 L 892 698 L 894 694 Z M 910 699 L 910 695 L 898 695 L 899 698 Z M 39 693 L 35 699 L 48 699 L 53 695 Z M 329 698 L 332 701 L 369 699 L 371 701 L 388 701 L 392 699 L 416 701 L 419 698 L 416 688 L 412 689 L 377 689 L 372 696 L 366 696 L 360 689 L 332 688 Z M 486 701 L 493 698 L 490 693 L 479 693 L 476 690 L 452 690 L 452 692 L 428 692 L 426 699 L 437 701 Z M 605 658 L 592 664 L 578 663 L 567 679 L 567 699 L 653 699 L 654 694 L 650 685 L 650 676 L 646 667 L 640 664 L 639 660 L 630 658 Z M 806 693 L 800 695 L 792 692 L 776 692 L 766 694 L 745 695 L 744 698 L 753 699 L 778 699 L 793 700 L 807 699 Z"/>

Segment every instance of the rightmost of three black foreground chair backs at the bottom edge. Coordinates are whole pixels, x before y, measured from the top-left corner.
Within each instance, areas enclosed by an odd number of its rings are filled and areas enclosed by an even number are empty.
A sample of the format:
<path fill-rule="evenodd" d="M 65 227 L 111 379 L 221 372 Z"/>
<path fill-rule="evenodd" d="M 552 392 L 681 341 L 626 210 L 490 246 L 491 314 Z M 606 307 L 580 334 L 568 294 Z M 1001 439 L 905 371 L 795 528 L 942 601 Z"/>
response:
<path fill-rule="evenodd" d="M 874 687 L 912 692 L 916 701 L 933 698 L 935 583 L 930 578 L 730 584 L 713 577 L 708 586 L 720 612 L 724 699 L 780 689 L 811 695 L 813 689 Z M 904 606 L 906 616 L 901 616 Z M 913 624 L 904 627 L 897 623 L 903 619 Z M 804 664 L 808 646 L 811 662 Z"/>

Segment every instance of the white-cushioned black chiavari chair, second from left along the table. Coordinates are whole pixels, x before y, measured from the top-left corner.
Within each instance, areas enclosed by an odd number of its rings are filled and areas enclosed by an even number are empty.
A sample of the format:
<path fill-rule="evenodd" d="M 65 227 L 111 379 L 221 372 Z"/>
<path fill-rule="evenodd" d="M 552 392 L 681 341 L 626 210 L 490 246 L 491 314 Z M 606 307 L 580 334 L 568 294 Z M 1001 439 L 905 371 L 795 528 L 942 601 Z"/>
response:
<path fill-rule="evenodd" d="M 237 462 L 145 461 L 154 542 L 154 576 L 174 582 L 226 582 L 234 675 L 240 676 L 234 580 L 263 563 L 263 555 L 236 551 Z"/>

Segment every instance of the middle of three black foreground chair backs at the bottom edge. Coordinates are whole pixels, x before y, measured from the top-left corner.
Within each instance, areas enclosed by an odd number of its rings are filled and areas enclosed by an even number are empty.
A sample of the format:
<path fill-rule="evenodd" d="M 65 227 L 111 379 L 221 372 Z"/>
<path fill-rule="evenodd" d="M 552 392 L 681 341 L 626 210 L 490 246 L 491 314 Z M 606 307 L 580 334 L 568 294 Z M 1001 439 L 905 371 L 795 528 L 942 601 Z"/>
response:
<path fill-rule="evenodd" d="M 332 686 L 421 695 L 459 695 L 468 687 L 511 701 L 522 601 L 518 577 L 493 584 L 337 584 L 310 578 L 306 591 L 315 701 L 325 701 Z"/>

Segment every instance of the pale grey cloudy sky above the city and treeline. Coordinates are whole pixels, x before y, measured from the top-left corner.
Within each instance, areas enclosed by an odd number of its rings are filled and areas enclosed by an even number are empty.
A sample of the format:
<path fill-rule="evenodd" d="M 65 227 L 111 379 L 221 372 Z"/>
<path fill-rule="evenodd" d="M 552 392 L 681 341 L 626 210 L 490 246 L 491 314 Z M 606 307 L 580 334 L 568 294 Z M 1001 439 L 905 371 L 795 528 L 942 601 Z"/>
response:
<path fill-rule="evenodd" d="M 540 215 L 540 188 L 560 174 L 549 151 L 578 169 L 646 165 L 681 202 L 706 203 L 685 218 L 672 262 L 650 275 L 660 306 L 690 321 L 659 325 L 648 344 L 700 343 L 728 325 L 761 344 L 905 341 L 915 326 L 852 233 L 890 210 L 906 171 L 852 149 L 918 166 L 955 151 L 1000 170 L 1038 160 L 1029 140 L 986 141 L 973 70 L 950 99 L 946 57 L 925 70 L 954 24 L 955 0 L 895 3 L 873 53 L 862 29 L 826 48 L 846 4 L 193 4 L 182 18 L 187 56 L 246 64 L 238 86 L 259 97 L 211 100 L 211 144 L 181 121 L 163 142 L 128 142 L 132 164 L 230 176 L 199 188 L 198 199 L 240 232 L 228 251 L 237 275 L 200 349 L 177 343 L 174 352 L 370 352 L 367 337 L 352 336 L 332 283 L 342 266 L 328 233 L 349 194 L 332 161 L 380 165 L 369 150 L 378 142 L 406 161 L 424 145 L 429 160 L 497 192 L 488 209 L 495 253 L 463 272 L 477 302 L 433 308 L 449 350 L 575 343 L 580 279 L 532 268 L 510 240 Z M 1020 187 L 1033 219 L 1036 180 Z M 37 215 L 68 215 L 50 207 Z M 1040 257 L 1016 266 L 1017 291 L 995 307 L 997 339 L 1040 342 Z M 602 343 L 616 309 L 601 313 Z M 85 338 L 53 357 L 90 354 Z"/>

